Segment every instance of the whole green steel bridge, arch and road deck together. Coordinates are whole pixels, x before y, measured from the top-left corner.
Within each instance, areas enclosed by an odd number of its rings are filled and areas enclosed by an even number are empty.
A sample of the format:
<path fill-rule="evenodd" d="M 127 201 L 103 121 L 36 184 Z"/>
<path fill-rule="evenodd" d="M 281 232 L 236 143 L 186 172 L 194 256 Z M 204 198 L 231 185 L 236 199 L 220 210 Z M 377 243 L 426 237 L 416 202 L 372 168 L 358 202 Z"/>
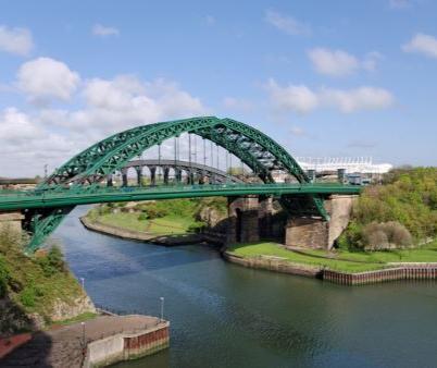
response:
<path fill-rule="evenodd" d="M 260 179 L 253 184 L 164 185 L 104 187 L 102 183 L 142 151 L 182 134 L 195 134 L 223 147 Z M 282 171 L 294 183 L 275 183 Z M 323 201 L 332 194 L 357 194 L 360 187 L 311 183 L 297 161 L 262 132 L 232 119 L 191 118 L 138 126 L 114 134 L 76 155 L 40 183 L 35 191 L 0 194 L 0 211 L 21 210 L 24 229 L 32 234 L 27 252 L 37 249 L 77 205 L 109 201 L 209 196 L 271 195 L 294 216 L 328 220 Z"/>

